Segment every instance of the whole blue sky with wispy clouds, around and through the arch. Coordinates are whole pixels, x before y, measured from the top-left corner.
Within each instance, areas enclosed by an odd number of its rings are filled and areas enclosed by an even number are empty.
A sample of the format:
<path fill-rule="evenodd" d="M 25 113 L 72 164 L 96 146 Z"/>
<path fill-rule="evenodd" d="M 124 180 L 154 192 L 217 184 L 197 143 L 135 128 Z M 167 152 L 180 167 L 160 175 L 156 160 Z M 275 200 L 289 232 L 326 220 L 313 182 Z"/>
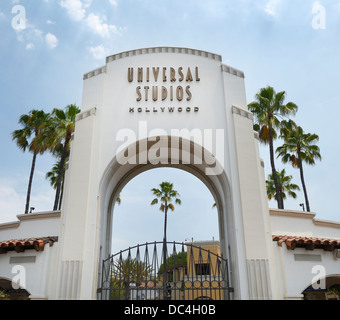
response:
<path fill-rule="evenodd" d="M 248 102 L 268 85 L 286 91 L 286 101 L 299 106 L 294 120 L 320 137 L 322 161 L 305 166 L 311 210 L 318 219 L 340 221 L 335 201 L 340 195 L 339 0 L 1 0 L 0 32 L 0 223 L 15 221 L 25 207 L 32 155 L 11 139 L 20 115 L 81 106 L 85 73 L 105 65 L 108 55 L 155 46 L 220 54 L 224 64 L 245 73 Z M 267 176 L 268 147 L 261 146 L 260 153 Z M 54 162 L 49 154 L 38 157 L 31 197 L 35 212 L 53 207 L 54 190 L 45 174 Z M 280 159 L 276 167 L 285 168 L 301 186 L 296 169 Z M 138 230 L 151 240 L 162 238 L 162 215 L 150 207 L 150 189 L 167 177 L 183 201 L 169 217 L 169 237 L 218 239 L 217 212 L 206 187 L 185 172 L 164 170 L 144 173 L 123 190 L 115 212 L 116 242 L 143 242 L 144 236 L 126 238 Z M 300 191 L 285 208 L 301 210 L 303 202 Z M 276 208 L 276 203 L 269 206 Z M 192 214 L 201 217 L 196 221 L 202 228 L 177 233 Z"/>

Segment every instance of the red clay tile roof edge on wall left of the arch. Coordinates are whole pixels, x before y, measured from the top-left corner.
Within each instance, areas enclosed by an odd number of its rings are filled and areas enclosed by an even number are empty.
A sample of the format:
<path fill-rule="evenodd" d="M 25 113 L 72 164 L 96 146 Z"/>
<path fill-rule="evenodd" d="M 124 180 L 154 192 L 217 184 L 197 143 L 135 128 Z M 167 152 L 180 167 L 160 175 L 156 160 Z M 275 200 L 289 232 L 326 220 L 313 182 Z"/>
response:
<path fill-rule="evenodd" d="M 58 237 L 40 237 L 0 241 L 0 254 L 7 253 L 8 251 L 24 252 L 25 250 L 30 249 L 43 251 L 46 244 L 49 244 L 49 246 L 52 247 L 54 242 L 58 242 Z"/>

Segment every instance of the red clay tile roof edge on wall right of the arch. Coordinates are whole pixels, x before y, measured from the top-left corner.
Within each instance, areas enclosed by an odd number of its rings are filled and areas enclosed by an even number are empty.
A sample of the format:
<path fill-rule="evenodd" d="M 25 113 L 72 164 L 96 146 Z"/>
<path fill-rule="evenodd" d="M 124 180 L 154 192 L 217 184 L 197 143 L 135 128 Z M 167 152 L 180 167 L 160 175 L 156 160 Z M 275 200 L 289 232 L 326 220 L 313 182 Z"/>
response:
<path fill-rule="evenodd" d="M 277 241 L 277 244 L 280 247 L 282 247 L 282 244 L 285 243 L 287 248 L 290 250 L 294 250 L 295 248 L 305 248 L 306 250 L 323 249 L 325 251 L 340 249 L 339 239 L 273 235 L 273 241 Z"/>

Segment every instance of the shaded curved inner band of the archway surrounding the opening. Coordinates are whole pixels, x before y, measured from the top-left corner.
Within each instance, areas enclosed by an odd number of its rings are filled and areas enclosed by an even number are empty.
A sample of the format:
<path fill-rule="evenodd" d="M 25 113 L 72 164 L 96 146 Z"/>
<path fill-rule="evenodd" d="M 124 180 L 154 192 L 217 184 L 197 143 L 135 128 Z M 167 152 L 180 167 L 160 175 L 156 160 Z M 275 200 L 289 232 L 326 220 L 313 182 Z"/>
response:
<path fill-rule="evenodd" d="M 230 277 L 229 285 L 233 286 L 235 283 L 236 296 L 237 281 L 234 281 L 234 279 L 238 277 L 238 259 L 236 257 L 235 224 L 232 214 L 230 185 L 224 166 L 215 159 L 211 152 L 205 150 L 202 146 L 179 137 L 171 137 L 171 139 L 177 140 L 178 143 L 170 145 L 169 138 L 168 136 L 162 136 L 158 137 L 158 139 L 151 139 L 152 141 L 157 141 L 159 150 L 158 153 L 153 153 L 151 157 L 148 152 L 155 143 L 149 143 L 149 140 L 145 139 L 131 144 L 114 157 L 103 175 L 99 191 L 102 230 L 100 234 L 100 251 L 98 254 L 99 282 L 102 277 L 100 271 L 102 261 L 107 259 L 112 251 L 115 250 L 112 248 L 113 230 L 115 228 L 115 206 L 117 206 L 117 198 L 119 195 L 123 195 L 122 191 L 124 187 L 135 177 L 151 169 L 176 168 L 184 170 L 198 178 L 211 193 L 211 199 L 213 199 L 214 202 L 209 203 L 209 207 L 211 208 L 210 210 L 212 210 L 212 206 L 216 204 L 220 251 L 223 257 L 230 262 L 230 270 L 228 272 L 230 272 L 232 276 Z M 190 148 L 183 148 L 184 143 L 189 144 Z M 143 146 L 144 148 L 142 148 Z M 197 159 L 200 152 L 201 155 L 204 154 L 204 156 L 202 156 L 201 159 Z M 147 159 L 147 161 L 145 163 L 134 162 L 135 159 L 139 157 Z M 125 159 L 124 163 L 120 162 L 121 158 Z M 184 161 L 184 159 L 186 161 Z M 192 159 L 192 161 L 187 162 L 187 159 Z M 129 162 L 129 160 L 132 161 Z M 162 181 L 159 181 L 159 183 L 160 182 Z M 157 185 L 153 187 L 157 187 Z M 175 186 L 175 189 L 178 190 L 179 188 Z M 180 190 L 178 191 L 180 192 Z M 150 201 L 152 200 L 151 193 L 149 199 Z M 122 198 L 122 201 L 124 201 L 124 198 Z M 146 203 L 148 202 L 148 199 L 146 199 Z M 150 211 L 154 212 L 155 210 L 157 209 L 150 207 Z M 162 230 L 162 227 L 159 227 L 159 229 Z M 126 230 L 126 232 L 128 233 L 129 231 Z M 143 231 L 141 230 L 140 232 Z M 190 235 L 185 235 L 185 237 L 187 236 L 190 237 Z M 210 237 L 214 237 L 214 235 Z M 202 240 L 200 236 L 199 238 L 199 240 Z"/>

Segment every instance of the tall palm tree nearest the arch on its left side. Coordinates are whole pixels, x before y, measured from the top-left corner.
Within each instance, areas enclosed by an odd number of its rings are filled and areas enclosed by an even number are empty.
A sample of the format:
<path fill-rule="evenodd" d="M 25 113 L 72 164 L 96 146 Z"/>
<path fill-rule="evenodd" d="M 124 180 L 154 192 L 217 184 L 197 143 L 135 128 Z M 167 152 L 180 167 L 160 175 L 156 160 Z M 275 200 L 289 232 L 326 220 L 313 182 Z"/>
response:
<path fill-rule="evenodd" d="M 80 109 L 74 105 L 68 105 L 65 110 L 54 109 L 52 112 L 53 124 L 50 126 L 48 145 L 52 153 L 59 154 L 59 172 L 56 186 L 56 196 L 53 211 L 58 209 L 61 197 L 62 181 L 65 174 L 65 164 L 71 148 L 71 138 L 75 130 L 76 115 Z"/>

